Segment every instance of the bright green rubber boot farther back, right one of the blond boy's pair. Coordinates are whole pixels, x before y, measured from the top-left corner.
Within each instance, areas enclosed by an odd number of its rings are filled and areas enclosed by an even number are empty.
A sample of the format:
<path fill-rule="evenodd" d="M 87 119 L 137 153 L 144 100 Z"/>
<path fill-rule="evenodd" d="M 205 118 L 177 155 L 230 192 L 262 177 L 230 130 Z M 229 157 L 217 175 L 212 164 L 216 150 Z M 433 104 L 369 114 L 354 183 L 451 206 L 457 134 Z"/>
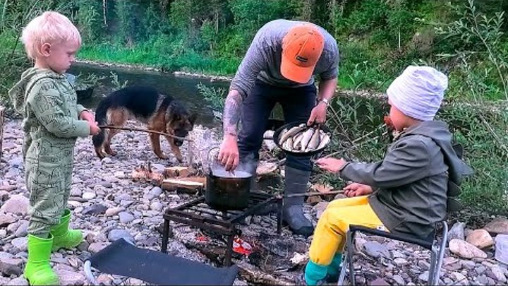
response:
<path fill-rule="evenodd" d="M 52 227 L 49 232 L 54 237 L 52 251 L 61 248 L 72 249 L 83 242 L 83 233 L 80 230 L 68 228 L 69 220 L 71 220 L 71 210 L 66 209 L 63 211 L 60 224 Z"/>

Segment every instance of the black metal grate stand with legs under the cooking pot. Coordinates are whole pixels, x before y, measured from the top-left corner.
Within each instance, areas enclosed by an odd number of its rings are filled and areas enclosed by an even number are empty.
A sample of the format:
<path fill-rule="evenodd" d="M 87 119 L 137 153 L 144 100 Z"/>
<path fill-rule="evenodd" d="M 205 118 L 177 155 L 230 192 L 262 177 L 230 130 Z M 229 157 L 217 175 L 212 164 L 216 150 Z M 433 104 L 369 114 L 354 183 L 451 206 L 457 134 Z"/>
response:
<path fill-rule="evenodd" d="M 167 253 L 169 239 L 169 222 L 192 225 L 200 229 L 210 230 L 222 235 L 227 235 L 227 249 L 225 265 L 231 266 L 233 254 L 233 240 L 238 230 L 236 225 L 242 222 L 249 215 L 254 215 L 268 205 L 277 204 L 277 234 L 282 230 L 282 196 L 274 196 L 269 193 L 250 192 L 248 207 L 243 210 L 215 210 L 205 203 L 205 197 L 201 196 L 193 201 L 184 203 L 176 208 L 169 208 L 164 212 L 164 230 L 162 231 L 161 251 Z M 222 218 L 214 218 L 221 215 Z"/>

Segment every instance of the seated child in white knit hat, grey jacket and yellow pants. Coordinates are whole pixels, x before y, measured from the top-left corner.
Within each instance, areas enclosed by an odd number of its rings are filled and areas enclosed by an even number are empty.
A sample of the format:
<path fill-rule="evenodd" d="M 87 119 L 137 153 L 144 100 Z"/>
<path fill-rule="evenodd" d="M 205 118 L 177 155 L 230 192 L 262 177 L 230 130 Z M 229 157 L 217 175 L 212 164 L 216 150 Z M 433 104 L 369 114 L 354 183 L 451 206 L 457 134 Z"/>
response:
<path fill-rule="evenodd" d="M 443 121 L 433 121 L 448 79 L 429 66 L 409 66 L 387 90 L 389 117 L 400 135 L 379 162 L 322 158 L 317 165 L 353 181 L 329 203 L 310 245 L 307 285 L 337 280 L 349 225 L 426 238 L 447 213 L 448 183 L 468 167 L 452 148 Z"/>

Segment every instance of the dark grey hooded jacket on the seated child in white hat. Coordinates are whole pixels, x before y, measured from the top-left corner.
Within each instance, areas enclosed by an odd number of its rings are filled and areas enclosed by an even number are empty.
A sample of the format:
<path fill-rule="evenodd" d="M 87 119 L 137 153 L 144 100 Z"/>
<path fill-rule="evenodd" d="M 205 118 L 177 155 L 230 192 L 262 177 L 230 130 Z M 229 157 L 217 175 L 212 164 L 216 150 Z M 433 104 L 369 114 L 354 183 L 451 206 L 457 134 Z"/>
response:
<path fill-rule="evenodd" d="M 452 148 L 447 124 L 423 121 L 402 132 L 382 161 L 351 162 L 340 176 L 378 189 L 369 203 L 390 232 L 424 238 L 446 217 L 449 181 L 459 185 L 471 173 Z"/>

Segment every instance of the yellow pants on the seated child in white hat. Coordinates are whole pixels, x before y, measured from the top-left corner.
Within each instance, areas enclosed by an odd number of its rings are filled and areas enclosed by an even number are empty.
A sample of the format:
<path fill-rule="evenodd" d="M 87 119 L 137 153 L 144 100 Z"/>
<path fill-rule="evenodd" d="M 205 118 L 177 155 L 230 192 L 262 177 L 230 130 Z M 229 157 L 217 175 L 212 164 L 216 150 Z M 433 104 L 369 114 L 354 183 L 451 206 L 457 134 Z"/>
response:
<path fill-rule="evenodd" d="M 328 266 L 335 253 L 342 252 L 344 249 L 349 225 L 385 227 L 370 208 L 367 196 L 332 201 L 317 222 L 313 241 L 310 244 L 310 261 L 321 266 Z"/>

